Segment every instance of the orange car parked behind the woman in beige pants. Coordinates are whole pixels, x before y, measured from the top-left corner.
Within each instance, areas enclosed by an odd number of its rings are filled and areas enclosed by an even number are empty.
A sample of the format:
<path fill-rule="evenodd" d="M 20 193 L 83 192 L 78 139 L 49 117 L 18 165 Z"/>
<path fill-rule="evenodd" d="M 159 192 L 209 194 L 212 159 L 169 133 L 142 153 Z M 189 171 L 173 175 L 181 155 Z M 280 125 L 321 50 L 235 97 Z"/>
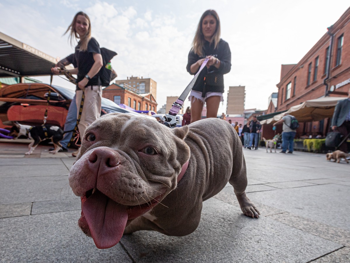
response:
<path fill-rule="evenodd" d="M 44 83 L 18 83 L 1 88 L 0 128 L 9 128 L 12 126 L 11 121 L 31 126 L 41 125 L 46 109 L 48 111 L 46 123 L 63 128 L 74 95 L 74 90 Z M 119 112 L 154 119 L 145 114 L 123 109 L 106 98 L 102 98 L 101 104 L 101 115 Z"/>

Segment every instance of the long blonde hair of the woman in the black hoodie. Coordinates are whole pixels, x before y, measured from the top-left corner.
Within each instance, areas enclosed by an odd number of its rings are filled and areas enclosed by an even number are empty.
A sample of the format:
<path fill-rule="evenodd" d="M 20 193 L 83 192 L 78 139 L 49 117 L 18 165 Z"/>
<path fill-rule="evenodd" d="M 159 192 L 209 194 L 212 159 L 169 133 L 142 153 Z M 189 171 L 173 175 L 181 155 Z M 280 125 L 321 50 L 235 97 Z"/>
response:
<path fill-rule="evenodd" d="M 198 56 L 203 55 L 203 46 L 204 46 L 205 40 L 204 40 L 204 35 L 202 32 L 202 22 L 203 22 L 203 19 L 205 18 L 205 16 L 207 16 L 207 15 L 214 16 L 214 18 L 216 20 L 216 29 L 215 29 L 214 35 L 212 36 L 212 38 L 210 40 L 210 44 L 214 43 L 214 48 L 216 48 L 219 41 L 220 41 L 221 30 L 220 30 L 219 16 L 215 10 L 209 9 L 202 14 L 201 19 L 200 19 L 198 26 L 197 26 L 197 31 L 196 31 L 195 37 L 193 39 L 193 43 L 192 43 L 193 46 L 192 46 L 191 50 L 193 50 L 194 53 L 197 54 Z"/>

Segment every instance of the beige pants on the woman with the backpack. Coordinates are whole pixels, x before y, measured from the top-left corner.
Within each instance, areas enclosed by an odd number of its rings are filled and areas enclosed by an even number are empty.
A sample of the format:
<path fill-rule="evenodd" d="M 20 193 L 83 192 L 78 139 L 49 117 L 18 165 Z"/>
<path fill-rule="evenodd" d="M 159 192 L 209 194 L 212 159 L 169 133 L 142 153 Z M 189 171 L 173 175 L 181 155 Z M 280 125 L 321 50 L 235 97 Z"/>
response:
<path fill-rule="evenodd" d="M 83 90 L 76 91 L 77 119 Z M 80 138 L 84 136 L 87 126 L 101 115 L 102 86 L 87 86 L 84 90 L 84 105 L 80 122 L 78 124 Z M 81 139 L 82 140 L 82 139 Z"/>

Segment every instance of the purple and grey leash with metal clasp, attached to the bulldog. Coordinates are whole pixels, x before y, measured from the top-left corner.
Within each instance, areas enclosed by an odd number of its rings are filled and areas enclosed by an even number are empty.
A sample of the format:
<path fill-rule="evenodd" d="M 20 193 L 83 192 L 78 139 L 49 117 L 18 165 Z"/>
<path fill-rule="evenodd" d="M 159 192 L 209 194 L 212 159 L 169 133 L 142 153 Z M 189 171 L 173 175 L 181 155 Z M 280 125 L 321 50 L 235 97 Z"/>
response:
<path fill-rule="evenodd" d="M 191 89 L 195 85 L 195 82 L 198 78 L 198 75 L 201 73 L 202 69 L 207 65 L 209 58 L 206 58 L 196 75 L 193 77 L 193 80 L 187 85 L 186 89 L 182 92 L 179 99 L 177 99 L 172 108 L 169 110 L 169 114 L 164 114 L 160 117 L 160 123 L 164 124 L 169 128 L 176 127 L 176 123 L 179 121 L 179 118 L 176 118 L 176 114 L 179 113 L 180 109 L 182 109 L 183 102 L 186 100 L 187 95 L 190 93 Z"/>

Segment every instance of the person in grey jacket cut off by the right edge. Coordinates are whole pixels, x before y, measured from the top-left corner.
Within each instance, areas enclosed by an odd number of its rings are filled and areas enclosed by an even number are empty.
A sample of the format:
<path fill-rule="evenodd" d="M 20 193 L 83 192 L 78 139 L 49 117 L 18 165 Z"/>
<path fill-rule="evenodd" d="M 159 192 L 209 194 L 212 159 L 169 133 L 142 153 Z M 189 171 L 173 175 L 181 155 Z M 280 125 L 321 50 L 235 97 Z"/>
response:
<path fill-rule="evenodd" d="M 348 136 L 350 133 L 350 88 L 348 98 L 339 100 L 334 108 L 332 117 L 332 130 L 337 129 L 343 136 Z M 348 144 L 346 140 L 339 146 L 339 150 L 348 153 Z"/>

